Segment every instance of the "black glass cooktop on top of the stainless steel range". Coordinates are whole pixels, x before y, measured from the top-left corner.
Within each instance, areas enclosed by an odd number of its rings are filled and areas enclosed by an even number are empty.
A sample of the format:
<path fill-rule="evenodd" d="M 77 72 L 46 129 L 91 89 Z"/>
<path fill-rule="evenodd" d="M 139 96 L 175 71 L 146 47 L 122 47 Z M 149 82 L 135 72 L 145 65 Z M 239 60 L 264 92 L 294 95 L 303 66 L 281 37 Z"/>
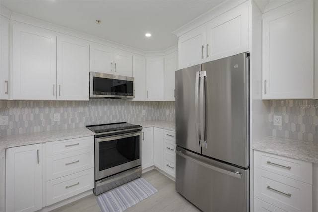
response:
<path fill-rule="evenodd" d="M 132 129 L 142 128 L 142 126 L 140 125 L 134 125 L 127 122 L 118 122 L 118 123 L 101 124 L 101 125 L 87 125 L 86 127 L 96 134 L 118 131 L 118 130 L 132 130 Z"/>

